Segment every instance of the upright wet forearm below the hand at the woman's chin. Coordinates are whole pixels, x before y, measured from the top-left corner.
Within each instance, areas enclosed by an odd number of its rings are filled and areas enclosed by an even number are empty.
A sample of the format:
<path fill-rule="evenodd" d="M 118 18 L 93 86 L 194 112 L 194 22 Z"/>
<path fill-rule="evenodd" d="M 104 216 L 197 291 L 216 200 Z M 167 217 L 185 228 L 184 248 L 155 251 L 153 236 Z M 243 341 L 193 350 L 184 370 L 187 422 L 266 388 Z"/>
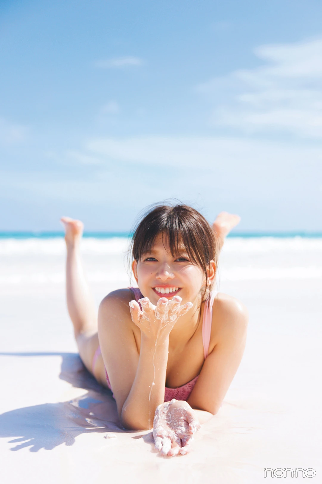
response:
<path fill-rule="evenodd" d="M 136 376 L 121 412 L 126 428 L 143 430 L 153 427 L 155 409 L 164 402 L 168 347 L 168 338 L 159 338 L 154 343 L 141 336 Z"/>

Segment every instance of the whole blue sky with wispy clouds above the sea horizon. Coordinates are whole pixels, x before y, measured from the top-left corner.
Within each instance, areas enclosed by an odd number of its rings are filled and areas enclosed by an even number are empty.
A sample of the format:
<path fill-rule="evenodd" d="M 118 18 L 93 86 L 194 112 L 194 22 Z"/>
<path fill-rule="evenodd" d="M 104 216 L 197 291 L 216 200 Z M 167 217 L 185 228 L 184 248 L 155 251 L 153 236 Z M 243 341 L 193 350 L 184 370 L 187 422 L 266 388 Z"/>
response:
<path fill-rule="evenodd" d="M 322 229 L 321 1 L 2 1 L 0 230 L 168 198 Z"/>

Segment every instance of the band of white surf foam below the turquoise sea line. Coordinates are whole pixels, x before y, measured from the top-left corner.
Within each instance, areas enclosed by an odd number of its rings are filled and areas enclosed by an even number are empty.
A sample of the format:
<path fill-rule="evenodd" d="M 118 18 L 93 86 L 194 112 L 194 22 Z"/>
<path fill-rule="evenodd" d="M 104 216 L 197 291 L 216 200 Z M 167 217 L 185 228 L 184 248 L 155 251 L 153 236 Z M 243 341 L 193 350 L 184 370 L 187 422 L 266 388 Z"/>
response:
<path fill-rule="evenodd" d="M 128 244 L 129 240 L 121 237 L 85 238 L 81 251 L 84 259 L 90 256 L 85 267 L 88 281 L 128 285 L 123 261 Z M 65 283 L 65 254 L 63 238 L 0 240 L 0 285 L 62 285 Z M 56 256 L 61 260 L 57 261 Z M 322 239 L 231 238 L 224 245 L 219 279 L 320 279 L 321 256 Z"/>

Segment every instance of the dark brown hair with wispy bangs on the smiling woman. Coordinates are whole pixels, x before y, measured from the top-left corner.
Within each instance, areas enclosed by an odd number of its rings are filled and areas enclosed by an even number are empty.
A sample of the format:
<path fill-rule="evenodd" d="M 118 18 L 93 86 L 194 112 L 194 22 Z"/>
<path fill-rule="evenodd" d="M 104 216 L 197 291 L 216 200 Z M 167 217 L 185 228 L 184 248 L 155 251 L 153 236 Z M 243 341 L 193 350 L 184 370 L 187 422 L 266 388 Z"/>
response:
<path fill-rule="evenodd" d="M 201 267 L 206 276 L 203 299 L 210 289 L 207 265 L 216 264 L 216 240 L 210 224 L 201 213 L 188 205 L 158 205 L 150 209 L 134 230 L 132 256 L 139 260 L 149 252 L 156 237 L 162 234 L 173 257 L 180 255 L 182 244 L 194 264 Z M 217 264 L 216 264 L 217 266 Z"/>

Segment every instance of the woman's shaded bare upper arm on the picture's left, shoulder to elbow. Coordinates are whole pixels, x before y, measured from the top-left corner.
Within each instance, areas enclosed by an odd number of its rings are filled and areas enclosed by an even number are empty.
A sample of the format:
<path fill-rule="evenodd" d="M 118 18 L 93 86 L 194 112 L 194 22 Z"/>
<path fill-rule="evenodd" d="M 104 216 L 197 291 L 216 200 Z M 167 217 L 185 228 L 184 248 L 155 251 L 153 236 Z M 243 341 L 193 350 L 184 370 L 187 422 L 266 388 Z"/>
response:
<path fill-rule="evenodd" d="M 139 363 L 132 325 L 128 301 L 122 291 L 106 296 L 98 310 L 98 339 L 119 415 Z"/>

